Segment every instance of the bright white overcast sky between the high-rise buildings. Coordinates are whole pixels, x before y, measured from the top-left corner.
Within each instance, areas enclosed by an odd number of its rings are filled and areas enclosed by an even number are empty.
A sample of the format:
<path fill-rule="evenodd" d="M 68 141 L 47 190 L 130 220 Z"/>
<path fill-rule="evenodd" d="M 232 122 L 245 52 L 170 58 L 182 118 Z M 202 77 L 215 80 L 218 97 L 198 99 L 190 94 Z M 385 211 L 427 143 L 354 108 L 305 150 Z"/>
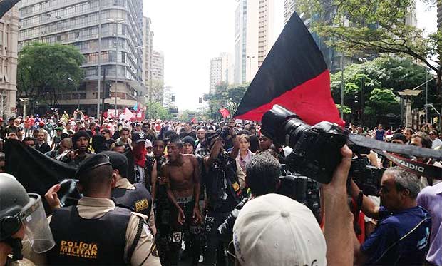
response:
<path fill-rule="evenodd" d="M 258 1 L 258 0 L 252 0 Z M 283 27 L 284 0 L 275 1 L 274 39 Z M 209 91 L 210 58 L 234 51 L 236 0 L 149 0 L 153 47 L 165 54 L 165 85 L 172 86 L 178 108 L 197 110 Z M 436 9 L 417 8 L 418 26 L 436 31 Z"/>

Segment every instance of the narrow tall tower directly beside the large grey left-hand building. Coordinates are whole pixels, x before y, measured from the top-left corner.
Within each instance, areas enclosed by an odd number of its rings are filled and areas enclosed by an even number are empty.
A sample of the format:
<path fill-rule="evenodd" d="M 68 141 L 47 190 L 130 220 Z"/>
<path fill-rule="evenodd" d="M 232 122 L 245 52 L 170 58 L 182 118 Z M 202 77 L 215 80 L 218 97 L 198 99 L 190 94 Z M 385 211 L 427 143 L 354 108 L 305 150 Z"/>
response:
<path fill-rule="evenodd" d="M 148 91 L 152 84 L 152 59 L 153 59 L 153 31 L 151 29 L 152 21 L 148 17 L 143 17 L 143 82 Z M 149 99 L 147 99 L 149 100 Z"/>

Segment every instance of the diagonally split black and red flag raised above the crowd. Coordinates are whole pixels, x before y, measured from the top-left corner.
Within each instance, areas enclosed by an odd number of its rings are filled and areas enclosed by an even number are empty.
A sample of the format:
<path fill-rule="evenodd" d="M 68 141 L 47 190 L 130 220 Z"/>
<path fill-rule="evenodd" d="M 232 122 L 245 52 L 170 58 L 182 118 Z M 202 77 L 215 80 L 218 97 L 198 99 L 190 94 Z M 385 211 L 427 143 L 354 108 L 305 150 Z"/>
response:
<path fill-rule="evenodd" d="M 344 126 L 330 91 L 330 73 L 309 30 L 294 12 L 250 83 L 234 118 L 261 121 L 275 104 L 314 125 Z"/>

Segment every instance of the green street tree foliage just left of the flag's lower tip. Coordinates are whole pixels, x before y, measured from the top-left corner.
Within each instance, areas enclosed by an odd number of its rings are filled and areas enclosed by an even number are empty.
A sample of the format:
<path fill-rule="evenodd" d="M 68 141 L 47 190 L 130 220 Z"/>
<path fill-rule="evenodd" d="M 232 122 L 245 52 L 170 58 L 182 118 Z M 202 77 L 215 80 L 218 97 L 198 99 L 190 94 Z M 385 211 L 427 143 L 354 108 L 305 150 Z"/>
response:
<path fill-rule="evenodd" d="M 226 108 L 233 115 L 248 87 L 249 83 L 239 86 L 228 86 L 226 83 L 220 83 L 220 85 L 216 86 L 214 93 L 205 94 L 203 97 L 204 101 L 209 103 L 205 116 L 212 119 L 220 119 L 222 118 L 220 114 L 221 108 Z"/>

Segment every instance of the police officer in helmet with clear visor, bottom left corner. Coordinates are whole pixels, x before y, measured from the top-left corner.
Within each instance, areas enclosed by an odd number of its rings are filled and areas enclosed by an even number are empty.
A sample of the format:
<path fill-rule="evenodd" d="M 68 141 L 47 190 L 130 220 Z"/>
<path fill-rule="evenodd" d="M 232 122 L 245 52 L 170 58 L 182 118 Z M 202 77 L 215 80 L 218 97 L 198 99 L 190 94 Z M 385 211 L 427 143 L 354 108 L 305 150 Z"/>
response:
<path fill-rule="evenodd" d="M 14 176 L 1 173 L 0 265 L 34 265 L 21 252 L 21 240 L 26 238 L 37 253 L 55 245 L 40 195 L 26 193 Z"/>

